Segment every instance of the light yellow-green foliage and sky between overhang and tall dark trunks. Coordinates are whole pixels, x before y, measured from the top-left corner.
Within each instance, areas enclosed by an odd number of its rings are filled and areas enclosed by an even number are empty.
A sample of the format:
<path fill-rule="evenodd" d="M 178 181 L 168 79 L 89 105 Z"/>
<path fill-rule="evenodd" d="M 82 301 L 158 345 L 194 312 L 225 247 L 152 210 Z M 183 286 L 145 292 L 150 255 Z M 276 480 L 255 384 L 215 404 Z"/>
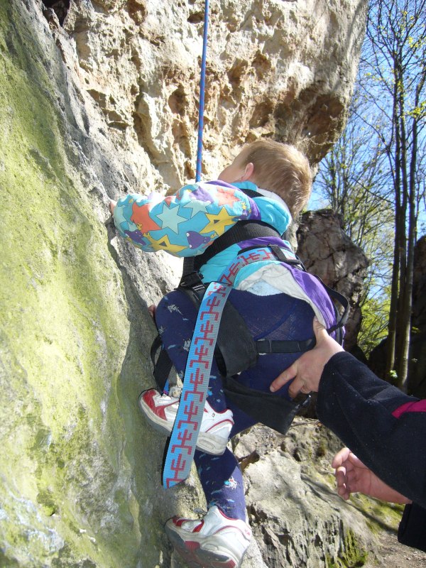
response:
<path fill-rule="evenodd" d="M 367 112 L 364 97 L 356 92 L 346 129 L 322 160 L 315 179 L 316 192 L 342 217 L 345 233 L 370 259 L 359 334 L 359 345 L 366 353 L 386 335 L 393 257 L 393 206 L 386 155 L 361 118 Z"/>

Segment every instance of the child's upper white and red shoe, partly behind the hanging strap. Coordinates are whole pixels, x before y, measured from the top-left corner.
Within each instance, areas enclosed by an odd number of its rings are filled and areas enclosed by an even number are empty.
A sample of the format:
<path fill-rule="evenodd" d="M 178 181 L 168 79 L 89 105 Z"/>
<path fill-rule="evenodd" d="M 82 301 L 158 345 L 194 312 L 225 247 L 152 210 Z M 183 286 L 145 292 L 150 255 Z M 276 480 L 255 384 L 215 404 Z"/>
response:
<path fill-rule="evenodd" d="M 175 423 L 179 399 L 174 396 L 161 395 L 155 388 L 143 391 L 139 396 L 139 408 L 160 432 L 169 435 Z M 202 416 L 200 434 L 197 439 L 197 449 L 206 454 L 222 455 L 228 443 L 229 433 L 234 426 L 231 410 L 217 412 L 206 400 Z"/>

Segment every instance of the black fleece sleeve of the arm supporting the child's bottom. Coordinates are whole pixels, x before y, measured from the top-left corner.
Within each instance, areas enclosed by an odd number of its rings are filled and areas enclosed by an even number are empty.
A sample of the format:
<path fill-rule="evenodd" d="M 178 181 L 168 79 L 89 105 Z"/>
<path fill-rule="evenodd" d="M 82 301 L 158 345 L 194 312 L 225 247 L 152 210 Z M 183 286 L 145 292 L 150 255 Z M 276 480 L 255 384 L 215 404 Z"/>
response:
<path fill-rule="evenodd" d="M 392 415 L 416 400 L 341 352 L 322 372 L 317 415 L 380 479 L 426 509 L 426 413 Z"/>

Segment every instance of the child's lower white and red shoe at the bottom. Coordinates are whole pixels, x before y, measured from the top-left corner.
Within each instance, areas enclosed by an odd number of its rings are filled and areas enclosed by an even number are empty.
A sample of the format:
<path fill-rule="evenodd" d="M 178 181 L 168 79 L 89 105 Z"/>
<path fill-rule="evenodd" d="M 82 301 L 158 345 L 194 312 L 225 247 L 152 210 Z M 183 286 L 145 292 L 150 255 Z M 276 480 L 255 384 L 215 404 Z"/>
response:
<path fill-rule="evenodd" d="M 238 568 L 251 540 L 249 525 L 227 518 L 217 506 L 202 519 L 173 517 L 165 532 L 190 566 Z"/>

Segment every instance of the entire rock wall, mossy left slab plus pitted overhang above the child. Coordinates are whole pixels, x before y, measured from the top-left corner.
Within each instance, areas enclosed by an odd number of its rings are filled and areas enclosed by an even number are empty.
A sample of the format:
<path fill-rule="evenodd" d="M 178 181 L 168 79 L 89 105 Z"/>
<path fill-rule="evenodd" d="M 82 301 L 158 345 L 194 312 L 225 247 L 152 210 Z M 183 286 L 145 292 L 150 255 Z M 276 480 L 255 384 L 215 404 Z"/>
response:
<path fill-rule="evenodd" d="M 109 197 L 193 175 L 202 2 L 46 4 L 0 3 L 0 565 L 178 567 L 163 523 L 202 494 L 195 476 L 160 487 L 164 439 L 136 407 L 153 385 L 147 305 L 177 272 L 105 222 Z M 365 13 L 212 1 L 206 176 L 258 136 L 324 155 Z M 253 542 L 244 568 L 262 562 Z"/>

